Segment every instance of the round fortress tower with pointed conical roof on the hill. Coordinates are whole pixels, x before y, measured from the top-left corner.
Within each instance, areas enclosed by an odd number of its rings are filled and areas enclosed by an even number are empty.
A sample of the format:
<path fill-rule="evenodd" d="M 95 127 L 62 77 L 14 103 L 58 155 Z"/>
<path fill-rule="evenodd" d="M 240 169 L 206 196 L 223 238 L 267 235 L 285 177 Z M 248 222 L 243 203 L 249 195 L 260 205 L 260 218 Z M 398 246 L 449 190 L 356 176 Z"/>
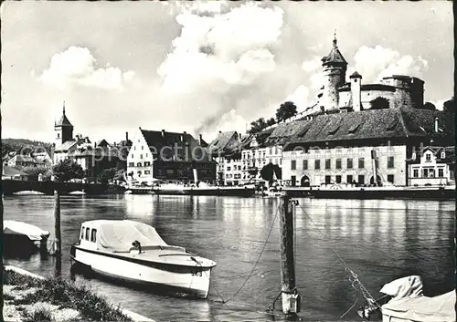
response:
<path fill-rule="evenodd" d="M 324 91 L 320 100 L 321 109 L 338 109 L 338 88 L 345 85 L 347 62 L 336 46 L 336 35 L 332 50 L 322 58 L 322 67 L 324 69 Z"/>

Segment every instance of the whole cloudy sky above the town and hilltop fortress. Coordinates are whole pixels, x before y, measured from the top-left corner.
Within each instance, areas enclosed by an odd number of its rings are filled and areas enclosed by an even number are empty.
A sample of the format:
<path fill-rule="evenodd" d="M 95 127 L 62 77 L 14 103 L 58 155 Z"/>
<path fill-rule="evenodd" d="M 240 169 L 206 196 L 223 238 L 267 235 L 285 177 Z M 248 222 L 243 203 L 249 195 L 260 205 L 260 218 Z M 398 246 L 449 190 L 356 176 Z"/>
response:
<path fill-rule="evenodd" d="M 4 138 L 52 141 L 66 101 L 74 133 L 246 130 L 284 101 L 320 88 L 320 59 L 338 47 L 364 83 L 391 74 L 452 97 L 452 3 L 5 2 Z"/>

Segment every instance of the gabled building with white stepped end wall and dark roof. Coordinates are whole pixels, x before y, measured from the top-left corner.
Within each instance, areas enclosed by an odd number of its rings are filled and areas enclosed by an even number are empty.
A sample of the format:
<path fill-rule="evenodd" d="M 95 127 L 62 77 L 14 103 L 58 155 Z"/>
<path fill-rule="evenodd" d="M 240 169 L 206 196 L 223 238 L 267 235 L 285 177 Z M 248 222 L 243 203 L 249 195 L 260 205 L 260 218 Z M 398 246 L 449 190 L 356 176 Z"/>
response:
<path fill-rule="evenodd" d="M 139 128 L 127 158 L 127 177 L 137 182 L 215 182 L 217 163 L 200 142 L 186 132 Z"/>

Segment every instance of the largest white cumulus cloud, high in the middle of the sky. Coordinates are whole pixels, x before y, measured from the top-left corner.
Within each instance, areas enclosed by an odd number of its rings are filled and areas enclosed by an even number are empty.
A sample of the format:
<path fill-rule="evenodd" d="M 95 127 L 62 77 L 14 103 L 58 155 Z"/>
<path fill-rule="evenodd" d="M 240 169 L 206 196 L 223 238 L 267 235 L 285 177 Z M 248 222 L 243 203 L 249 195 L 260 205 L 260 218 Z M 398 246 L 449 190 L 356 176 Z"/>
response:
<path fill-rule="evenodd" d="M 254 3 L 185 8 L 176 22 L 181 34 L 157 72 L 162 95 L 180 107 L 181 117 L 201 107 L 196 131 L 214 130 L 230 110 L 251 119 L 256 109 L 285 96 L 289 84 L 282 85 L 274 75 L 279 70 L 275 50 L 281 45 L 281 8 Z"/>

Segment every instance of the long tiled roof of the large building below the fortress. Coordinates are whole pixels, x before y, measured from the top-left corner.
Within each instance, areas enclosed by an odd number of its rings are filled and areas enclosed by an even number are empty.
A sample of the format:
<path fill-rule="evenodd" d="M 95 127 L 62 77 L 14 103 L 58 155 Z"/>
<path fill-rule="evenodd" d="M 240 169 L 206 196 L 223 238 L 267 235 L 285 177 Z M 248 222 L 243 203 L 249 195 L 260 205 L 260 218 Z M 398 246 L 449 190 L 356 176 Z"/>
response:
<path fill-rule="evenodd" d="M 440 134 L 434 133 L 435 117 Z M 306 120 L 301 120 L 306 122 Z M 304 125 L 303 125 L 304 127 Z M 302 135 L 288 143 L 313 143 L 336 140 L 389 139 L 420 136 L 453 136 L 452 119 L 438 110 L 367 109 L 358 112 L 325 114 L 315 117 Z"/>

